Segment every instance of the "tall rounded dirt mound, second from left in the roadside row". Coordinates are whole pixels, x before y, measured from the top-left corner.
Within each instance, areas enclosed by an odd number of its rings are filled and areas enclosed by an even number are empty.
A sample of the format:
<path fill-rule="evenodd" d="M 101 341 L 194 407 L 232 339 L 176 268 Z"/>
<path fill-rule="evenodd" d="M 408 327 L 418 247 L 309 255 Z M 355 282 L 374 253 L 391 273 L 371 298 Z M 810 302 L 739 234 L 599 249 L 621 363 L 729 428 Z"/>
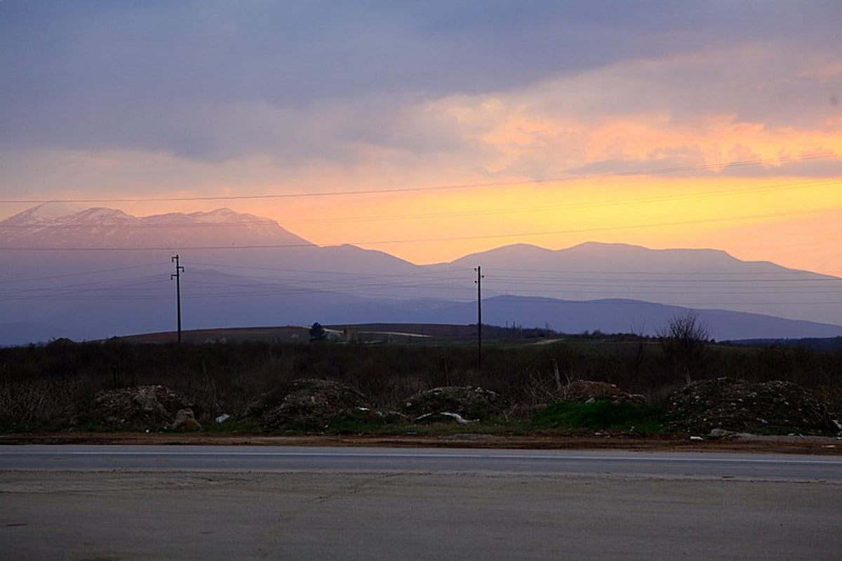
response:
<path fill-rule="evenodd" d="M 278 387 L 248 405 L 242 417 L 258 418 L 265 429 L 325 428 L 367 408 L 353 387 L 329 380 L 301 379 Z"/>

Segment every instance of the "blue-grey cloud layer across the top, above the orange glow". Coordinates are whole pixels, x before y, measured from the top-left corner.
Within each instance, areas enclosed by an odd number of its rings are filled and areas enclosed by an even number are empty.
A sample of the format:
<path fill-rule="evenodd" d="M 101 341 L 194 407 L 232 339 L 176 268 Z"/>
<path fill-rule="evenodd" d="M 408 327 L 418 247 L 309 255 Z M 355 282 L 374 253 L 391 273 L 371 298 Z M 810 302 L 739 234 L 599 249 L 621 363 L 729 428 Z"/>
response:
<path fill-rule="evenodd" d="M 666 111 L 833 128 L 834 15 L 834 3 L 12 0 L 0 143 L 209 161 L 341 159 L 357 142 L 423 152 L 450 129 L 412 122 L 413 106 L 498 95 L 586 122 Z"/>

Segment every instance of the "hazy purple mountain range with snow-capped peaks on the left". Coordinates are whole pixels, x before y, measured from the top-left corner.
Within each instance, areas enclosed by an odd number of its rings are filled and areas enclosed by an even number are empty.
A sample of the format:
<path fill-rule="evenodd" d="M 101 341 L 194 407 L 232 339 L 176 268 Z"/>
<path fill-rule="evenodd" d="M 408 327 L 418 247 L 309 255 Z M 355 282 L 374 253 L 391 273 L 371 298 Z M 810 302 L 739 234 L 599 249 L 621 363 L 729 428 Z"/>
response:
<path fill-rule="evenodd" d="M 0 345 L 173 329 L 320 323 L 483 323 L 656 334 L 693 308 L 716 339 L 842 335 L 842 279 L 716 249 L 509 245 L 417 265 L 320 247 L 228 209 L 137 217 L 48 203 L 0 222 Z"/>

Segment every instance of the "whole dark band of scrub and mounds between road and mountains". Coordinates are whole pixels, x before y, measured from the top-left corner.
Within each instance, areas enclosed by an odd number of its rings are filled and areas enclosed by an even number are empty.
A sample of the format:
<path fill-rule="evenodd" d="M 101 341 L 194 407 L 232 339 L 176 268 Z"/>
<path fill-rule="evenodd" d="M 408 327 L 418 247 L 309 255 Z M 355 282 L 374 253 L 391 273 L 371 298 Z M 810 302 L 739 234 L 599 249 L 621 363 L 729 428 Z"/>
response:
<path fill-rule="evenodd" d="M 834 425 L 842 417 L 842 350 L 498 328 L 484 341 L 480 369 L 476 345 L 462 336 L 311 335 L 3 348 L 0 430 L 178 430 L 176 410 L 189 409 L 206 432 L 657 435 L 709 430 L 671 410 L 704 415 L 690 405 L 711 396 L 725 402 L 717 403 L 723 418 L 742 411 L 742 425 L 729 430 L 760 421 L 775 434 L 842 430 Z M 781 412 L 755 423 L 749 405 L 761 398 L 758 406 Z"/>

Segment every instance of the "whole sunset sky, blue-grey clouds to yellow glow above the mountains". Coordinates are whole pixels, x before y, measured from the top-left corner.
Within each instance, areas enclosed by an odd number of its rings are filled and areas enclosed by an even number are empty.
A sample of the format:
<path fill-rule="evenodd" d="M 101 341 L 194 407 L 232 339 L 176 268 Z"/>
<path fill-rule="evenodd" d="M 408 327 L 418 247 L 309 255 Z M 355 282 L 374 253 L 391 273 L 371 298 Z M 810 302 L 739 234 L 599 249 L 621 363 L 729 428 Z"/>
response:
<path fill-rule="evenodd" d="M 842 275 L 842 3 L 0 1 L 0 219 L 220 207 L 414 263 Z"/>

